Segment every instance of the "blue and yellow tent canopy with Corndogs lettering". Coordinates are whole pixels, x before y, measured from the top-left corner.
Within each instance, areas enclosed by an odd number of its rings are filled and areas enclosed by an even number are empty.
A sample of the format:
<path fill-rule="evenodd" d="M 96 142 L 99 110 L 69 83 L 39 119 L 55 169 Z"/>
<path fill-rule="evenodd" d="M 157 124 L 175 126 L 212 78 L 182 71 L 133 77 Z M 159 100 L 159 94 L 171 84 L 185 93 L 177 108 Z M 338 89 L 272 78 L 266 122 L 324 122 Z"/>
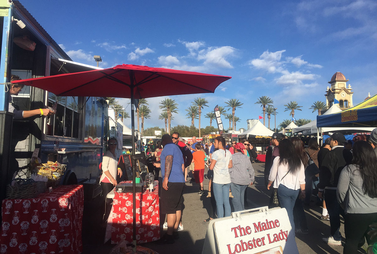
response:
<path fill-rule="evenodd" d="M 342 112 L 317 116 L 317 127 L 336 126 L 377 127 L 377 95 Z"/>

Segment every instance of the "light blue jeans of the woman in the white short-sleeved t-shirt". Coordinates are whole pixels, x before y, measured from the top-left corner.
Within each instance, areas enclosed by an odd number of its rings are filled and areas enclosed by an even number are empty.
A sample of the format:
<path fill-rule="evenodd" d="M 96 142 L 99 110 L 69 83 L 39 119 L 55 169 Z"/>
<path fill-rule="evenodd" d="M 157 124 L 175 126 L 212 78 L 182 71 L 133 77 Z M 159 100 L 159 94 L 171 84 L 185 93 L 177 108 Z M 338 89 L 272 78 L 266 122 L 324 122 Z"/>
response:
<path fill-rule="evenodd" d="M 224 208 L 225 208 L 225 217 L 230 216 L 230 203 L 229 203 L 229 184 L 212 184 L 213 193 L 215 194 L 216 208 L 217 208 L 217 217 L 224 217 Z"/>

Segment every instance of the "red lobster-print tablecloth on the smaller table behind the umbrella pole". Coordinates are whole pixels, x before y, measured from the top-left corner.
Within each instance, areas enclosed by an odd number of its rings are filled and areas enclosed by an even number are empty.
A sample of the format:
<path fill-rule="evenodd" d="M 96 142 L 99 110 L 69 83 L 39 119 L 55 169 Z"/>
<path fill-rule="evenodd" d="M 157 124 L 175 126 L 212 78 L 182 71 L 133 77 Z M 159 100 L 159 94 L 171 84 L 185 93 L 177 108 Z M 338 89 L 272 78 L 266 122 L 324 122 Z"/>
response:
<path fill-rule="evenodd" d="M 131 181 L 126 181 L 131 182 Z M 114 193 L 113 207 L 107 220 L 105 241 L 119 243 L 124 239 L 132 243 L 132 208 L 136 207 L 136 242 L 146 243 L 160 239 L 160 213 L 158 181 L 153 192 L 136 193 L 136 204 L 132 204 L 132 193 Z"/>

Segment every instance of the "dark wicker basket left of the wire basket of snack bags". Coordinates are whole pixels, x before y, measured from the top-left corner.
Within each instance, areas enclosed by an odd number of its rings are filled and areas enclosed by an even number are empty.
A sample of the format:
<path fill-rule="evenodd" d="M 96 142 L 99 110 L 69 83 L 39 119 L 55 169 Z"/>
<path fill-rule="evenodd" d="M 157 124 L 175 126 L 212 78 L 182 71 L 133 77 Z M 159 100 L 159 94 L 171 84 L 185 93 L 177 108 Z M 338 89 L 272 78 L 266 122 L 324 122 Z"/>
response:
<path fill-rule="evenodd" d="M 14 179 L 14 185 L 6 187 L 7 199 L 30 199 L 38 195 L 37 183 L 32 179 Z"/>

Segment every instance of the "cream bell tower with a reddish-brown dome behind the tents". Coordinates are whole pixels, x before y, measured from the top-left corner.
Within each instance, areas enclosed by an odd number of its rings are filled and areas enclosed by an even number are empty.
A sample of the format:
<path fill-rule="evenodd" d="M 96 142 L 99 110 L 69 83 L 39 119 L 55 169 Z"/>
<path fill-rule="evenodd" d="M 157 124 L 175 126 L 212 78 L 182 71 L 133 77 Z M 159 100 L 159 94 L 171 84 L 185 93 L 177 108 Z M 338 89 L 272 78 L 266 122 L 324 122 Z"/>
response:
<path fill-rule="evenodd" d="M 352 88 L 350 84 L 348 84 L 347 87 L 347 81 L 349 80 L 346 79 L 342 72 L 336 72 L 331 78 L 331 81 L 328 82 L 330 87 L 327 87 L 325 97 L 326 104 L 329 108 L 333 106 L 334 99 L 339 101 L 339 108 L 341 110 L 353 107 L 353 92 L 351 92 Z"/>

